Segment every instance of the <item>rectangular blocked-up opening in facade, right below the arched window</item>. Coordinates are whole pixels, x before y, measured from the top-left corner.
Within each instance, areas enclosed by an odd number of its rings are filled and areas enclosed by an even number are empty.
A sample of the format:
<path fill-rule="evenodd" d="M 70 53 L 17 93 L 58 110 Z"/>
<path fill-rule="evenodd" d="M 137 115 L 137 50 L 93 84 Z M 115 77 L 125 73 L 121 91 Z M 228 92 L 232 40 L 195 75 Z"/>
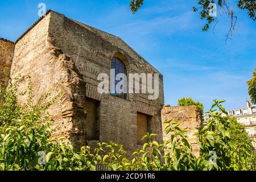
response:
<path fill-rule="evenodd" d="M 137 144 L 142 145 L 144 144 L 144 140 L 142 138 L 146 135 L 149 130 L 148 126 L 151 121 L 152 117 L 148 115 L 144 115 L 141 113 L 137 114 Z"/>

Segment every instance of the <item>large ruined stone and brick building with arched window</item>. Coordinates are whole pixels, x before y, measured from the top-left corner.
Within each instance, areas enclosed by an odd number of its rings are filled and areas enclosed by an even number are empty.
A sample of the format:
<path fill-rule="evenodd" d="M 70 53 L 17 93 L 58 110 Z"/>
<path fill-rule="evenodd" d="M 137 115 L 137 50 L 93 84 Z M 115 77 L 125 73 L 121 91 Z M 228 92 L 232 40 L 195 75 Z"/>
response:
<path fill-rule="evenodd" d="M 134 151 L 147 132 L 163 141 L 162 121 L 181 119 L 189 131 L 201 122 L 196 107 L 164 106 L 163 76 L 123 40 L 55 11 L 47 11 L 15 43 L 0 39 L 0 81 L 6 87 L 4 67 L 11 77 L 23 76 L 19 89 L 27 86 L 24 76 L 31 76 L 35 100 L 51 89 L 63 92 L 50 109 L 57 129 L 53 136 L 65 136 L 78 147 L 112 140 Z M 111 68 L 125 74 L 159 73 L 158 99 L 98 93 L 98 75 L 110 77 Z"/>

